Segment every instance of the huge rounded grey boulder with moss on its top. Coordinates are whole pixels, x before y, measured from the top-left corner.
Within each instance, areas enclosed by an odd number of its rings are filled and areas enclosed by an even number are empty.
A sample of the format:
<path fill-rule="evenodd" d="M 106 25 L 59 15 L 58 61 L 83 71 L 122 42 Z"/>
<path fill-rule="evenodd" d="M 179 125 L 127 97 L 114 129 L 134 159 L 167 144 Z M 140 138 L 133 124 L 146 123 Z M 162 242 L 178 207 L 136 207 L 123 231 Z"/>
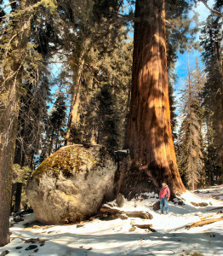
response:
<path fill-rule="evenodd" d="M 114 199 L 117 165 L 100 145 L 71 145 L 50 155 L 33 172 L 27 197 L 43 224 L 79 222 Z"/>

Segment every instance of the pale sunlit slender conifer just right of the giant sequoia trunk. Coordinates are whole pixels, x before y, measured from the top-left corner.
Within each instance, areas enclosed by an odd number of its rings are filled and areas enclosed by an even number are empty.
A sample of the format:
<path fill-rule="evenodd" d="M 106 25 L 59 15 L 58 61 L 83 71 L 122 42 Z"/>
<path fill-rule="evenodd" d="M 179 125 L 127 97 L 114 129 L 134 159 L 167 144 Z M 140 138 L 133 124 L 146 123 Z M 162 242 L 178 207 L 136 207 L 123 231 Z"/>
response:
<path fill-rule="evenodd" d="M 204 74 L 200 67 L 191 69 L 188 64 L 186 89 L 182 90 L 182 123 L 180 127 L 180 172 L 187 186 L 194 190 L 203 179 L 203 108 L 200 92 L 204 85 Z"/>

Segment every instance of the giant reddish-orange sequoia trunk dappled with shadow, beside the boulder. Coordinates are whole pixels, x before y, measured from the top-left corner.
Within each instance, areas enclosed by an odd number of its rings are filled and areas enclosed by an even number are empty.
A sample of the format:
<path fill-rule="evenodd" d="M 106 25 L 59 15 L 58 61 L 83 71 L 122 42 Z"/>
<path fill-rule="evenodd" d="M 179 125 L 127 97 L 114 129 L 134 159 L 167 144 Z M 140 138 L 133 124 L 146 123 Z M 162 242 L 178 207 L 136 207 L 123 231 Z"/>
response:
<path fill-rule="evenodd" d="M 170 127 L 163 0 L 137 0 L 127 147 L 129 171 L 120 192 L 156 190 L 166 181 L 172 191 L 185 187 L 176 165 Z"/>

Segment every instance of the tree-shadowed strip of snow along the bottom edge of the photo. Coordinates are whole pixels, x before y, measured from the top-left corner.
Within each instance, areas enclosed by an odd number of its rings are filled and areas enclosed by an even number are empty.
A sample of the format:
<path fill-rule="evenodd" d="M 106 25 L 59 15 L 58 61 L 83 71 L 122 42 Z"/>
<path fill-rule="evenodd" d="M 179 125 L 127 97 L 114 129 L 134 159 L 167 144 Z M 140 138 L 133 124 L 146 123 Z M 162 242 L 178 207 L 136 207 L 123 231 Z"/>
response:
<path fill-rule="evenodd" d="M 184 253 L 183 250 L 189 253 L 205 252 L 205 255 L 223 253 L 223 236 L 216 232 L 103 236 L 66 233 L 48 236 L 48 239 L 46 245 L 40 248 L 40 255 L 171 255 Z"/>

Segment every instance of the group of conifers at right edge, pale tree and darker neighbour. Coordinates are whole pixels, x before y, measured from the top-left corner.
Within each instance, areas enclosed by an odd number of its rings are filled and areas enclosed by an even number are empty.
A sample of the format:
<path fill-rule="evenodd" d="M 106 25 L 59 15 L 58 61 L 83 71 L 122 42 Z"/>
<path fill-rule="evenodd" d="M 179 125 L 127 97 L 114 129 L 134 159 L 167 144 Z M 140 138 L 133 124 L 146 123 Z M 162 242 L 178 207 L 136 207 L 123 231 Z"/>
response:
<path fill-rule="evenodd" d="M 222 12 L 216 1 L 214 9 Z M 190 189 L 223 183 L 223 20 L 209 15 L 201 29 L 204 67 L 190 67 L 182 94 L 177 143 L 180 174 Z"/>

